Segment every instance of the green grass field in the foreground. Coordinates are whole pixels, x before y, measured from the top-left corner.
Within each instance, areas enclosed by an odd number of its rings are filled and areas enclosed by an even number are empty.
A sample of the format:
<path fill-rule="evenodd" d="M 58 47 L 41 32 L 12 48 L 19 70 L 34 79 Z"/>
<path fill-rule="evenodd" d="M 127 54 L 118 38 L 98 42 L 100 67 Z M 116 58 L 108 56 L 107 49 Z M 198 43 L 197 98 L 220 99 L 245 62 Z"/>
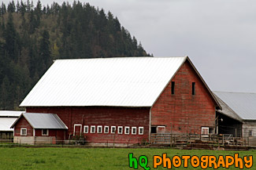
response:
<path fill-rule="evenodd" d="M 133 153 L 134 157 L 146 155 L 148 157 L 148 166 L 153 168 L 153 156 L 166 153 L 168 157 L 174 155 L 234 155 L 239 153 L 239 157 L 245 155 L 256 156 L 256 151 L 226 151 L 226 150 L 172 150 L 172 149 L 150 149 L 150 148 L 0 148 L 0 169 L 107 169 L 107 170 L 121 170 L 134 169 L 129 168 L 128 154 Z M 255 161 L 254 161 L 255 163 Z M 190 165 L 190 164 L 188 164 Z M 144 169 L 139 167 L 138 169 Z M 158 167 L 157 169 L 167 169 Z M 180 168 L 172 169 L 187 169 L 195 170 L 202 169 Z M 213 168 L 206 168 L 213 169 Z M 217 168 L 227 169 L 227 168 Z M 228 169 L 235 168 L 234 165 Z M 244 168 L 247 169 L 247 168 Z M 256 165 L 250 169 L 256 169 Z"/>

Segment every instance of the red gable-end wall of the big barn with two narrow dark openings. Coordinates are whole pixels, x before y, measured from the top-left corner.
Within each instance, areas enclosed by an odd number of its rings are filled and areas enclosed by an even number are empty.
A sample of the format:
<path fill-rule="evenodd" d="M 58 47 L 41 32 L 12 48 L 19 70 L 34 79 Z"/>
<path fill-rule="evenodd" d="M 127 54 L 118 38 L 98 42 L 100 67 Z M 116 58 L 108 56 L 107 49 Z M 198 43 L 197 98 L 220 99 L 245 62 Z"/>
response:
<path fill-rule="evenodd" d="M 172 95 L 172 82 L 169 82 L 152 107 L 151 125 L 165 125 L 166 132 L 173 133 L 200 134 L 202 126 L 214 128 L 216 103 L 188 61 L 172 81 L 175 81 L 175 94 Z M 192 82 L 195 82 L 195 95 L 192 95 Z"/>

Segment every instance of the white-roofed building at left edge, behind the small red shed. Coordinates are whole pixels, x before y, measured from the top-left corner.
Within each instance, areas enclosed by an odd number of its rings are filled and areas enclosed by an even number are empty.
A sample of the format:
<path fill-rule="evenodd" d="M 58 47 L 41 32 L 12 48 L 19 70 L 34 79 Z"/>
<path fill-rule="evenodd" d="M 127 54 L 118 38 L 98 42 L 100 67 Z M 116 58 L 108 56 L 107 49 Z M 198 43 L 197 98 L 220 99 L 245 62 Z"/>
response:
<path fill-rule="evenodd" d="M 13 139 L 13 122 L 19 118 L 22 111 L 0 110 L 0 139 Z"/>

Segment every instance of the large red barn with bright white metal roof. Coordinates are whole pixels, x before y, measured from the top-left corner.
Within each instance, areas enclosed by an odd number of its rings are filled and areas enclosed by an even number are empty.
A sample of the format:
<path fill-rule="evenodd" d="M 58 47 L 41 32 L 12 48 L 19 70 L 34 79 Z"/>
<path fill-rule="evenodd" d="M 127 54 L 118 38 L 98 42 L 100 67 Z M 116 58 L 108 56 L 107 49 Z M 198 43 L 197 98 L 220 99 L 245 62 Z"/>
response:
<path fill-rule="evenodd" d="M 66 139 L 132 144 L 158 132 L 214 133 L 219 104 L 185 56 L 56 60 L 20 107 L 58 114 Z"/>

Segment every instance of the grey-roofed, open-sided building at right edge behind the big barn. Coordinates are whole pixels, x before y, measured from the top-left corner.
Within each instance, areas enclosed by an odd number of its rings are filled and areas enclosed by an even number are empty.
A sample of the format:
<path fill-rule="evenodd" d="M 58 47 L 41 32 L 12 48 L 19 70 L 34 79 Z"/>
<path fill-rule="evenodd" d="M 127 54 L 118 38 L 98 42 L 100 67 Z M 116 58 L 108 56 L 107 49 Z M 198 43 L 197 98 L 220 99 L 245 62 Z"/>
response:
<path fill-rule="evenodd" d="M 214 92 L 214 94 L 222 107 L 222 110 L 217 110 L 217 114 L 220 115 L 219 129 L 220 125 L 224 125 L 226 131 L 230 129 L 228 133 L 249 139 L 251 143 L 254 141 L 256 145 L 256 93 Z"/>

